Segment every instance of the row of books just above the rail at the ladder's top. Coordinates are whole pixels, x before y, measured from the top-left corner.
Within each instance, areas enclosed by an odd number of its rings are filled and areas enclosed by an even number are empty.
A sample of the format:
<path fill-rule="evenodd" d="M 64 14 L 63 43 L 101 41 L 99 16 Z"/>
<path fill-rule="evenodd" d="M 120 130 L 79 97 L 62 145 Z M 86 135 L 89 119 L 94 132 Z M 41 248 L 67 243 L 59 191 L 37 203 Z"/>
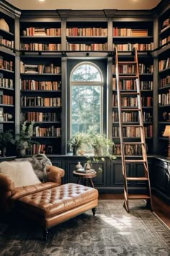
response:
<path fill-rule="evenodd" d="M 135 47 L 138 51 L 152 51 L 153 42 L 151 43 L 114 43 L 113 49 L 117 47 L 117 51 L 133 51 Z"/>

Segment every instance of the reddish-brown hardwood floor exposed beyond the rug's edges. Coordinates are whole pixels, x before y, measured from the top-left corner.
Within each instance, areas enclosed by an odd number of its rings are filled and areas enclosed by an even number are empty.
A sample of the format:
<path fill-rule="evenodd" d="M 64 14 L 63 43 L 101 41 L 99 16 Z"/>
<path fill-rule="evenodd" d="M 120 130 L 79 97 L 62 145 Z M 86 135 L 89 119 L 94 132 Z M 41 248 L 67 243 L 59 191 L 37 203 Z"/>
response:
<path fill-rule="evenodd" d="M 161 201 L 158 197 L 152 196 L 153 198 L 153 211 L 156 215 L 161 218 L 164 223 L 170 228 L 170 205 L 167 205 L 165 202 Z M 101 194 L 99 199 L 123 199 L 121 194 Z"/>

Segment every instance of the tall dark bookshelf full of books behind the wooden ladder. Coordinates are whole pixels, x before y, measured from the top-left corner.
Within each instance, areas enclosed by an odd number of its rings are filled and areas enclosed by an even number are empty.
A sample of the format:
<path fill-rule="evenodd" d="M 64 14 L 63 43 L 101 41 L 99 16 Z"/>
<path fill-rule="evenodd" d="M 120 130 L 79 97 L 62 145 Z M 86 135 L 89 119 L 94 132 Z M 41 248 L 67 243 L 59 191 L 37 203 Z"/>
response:
<path fill-rule="evenodd" d="M 143 106 L 143 121 L 148 153 L 152 152 L 153 142 L 153 20 L 129 21 L 126 18 L 115 19 L 112 23 L 112 47 L 117 46 L 120 61 L 131 61 L 133 59 L 133 47 L 138 49 L 138 63 L 140 74 L 140 90 Z M 121 91 L 133 93 L 136 88 L 135 81 L 128 76 L 135 74 L 135 65 L 122 64 L 119 73 L 125 74 L 127 78 L 120 80 Z M 128 110 L 122 113 L 124 124 L 138 124 L 138 112 L 130 111 L 136 106 L 133 96 L 122 98 L 122 106 Z M 115 62 L 112 63 L 112 139 L 115 142 L 115 154 L 120 155 L 120 135 L 117 108 L 117 90 L 115 82 Z M 125 127 L 123 136 L 126 140 L 137 141 L 138 128 Z M 138 155 L 141 153 L 139 145 L 125 145 L 126 155 Z"/>

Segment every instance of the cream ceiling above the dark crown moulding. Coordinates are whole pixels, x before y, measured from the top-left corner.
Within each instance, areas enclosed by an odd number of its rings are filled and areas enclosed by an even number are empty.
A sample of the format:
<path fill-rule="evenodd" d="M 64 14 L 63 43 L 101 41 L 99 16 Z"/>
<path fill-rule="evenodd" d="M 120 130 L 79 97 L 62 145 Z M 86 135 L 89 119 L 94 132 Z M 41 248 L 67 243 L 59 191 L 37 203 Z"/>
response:
<path fill-rule="evenodd" d="M 161 0 L 6 0 L 21 10 L 153 9 Z"/>

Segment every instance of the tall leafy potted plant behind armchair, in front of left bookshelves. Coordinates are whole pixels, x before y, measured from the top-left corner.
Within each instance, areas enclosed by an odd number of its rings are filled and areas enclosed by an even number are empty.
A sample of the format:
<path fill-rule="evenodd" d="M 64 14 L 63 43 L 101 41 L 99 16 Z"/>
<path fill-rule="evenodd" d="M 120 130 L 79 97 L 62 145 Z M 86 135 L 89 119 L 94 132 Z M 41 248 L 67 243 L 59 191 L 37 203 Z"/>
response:
<path fill-rule="evenodd" d="M 31 139 L 33 135 L 34 124 L 35 122 L 31 121 L 31 123 L 27 125 L 27 121 L 24 121 L 21 126 L 20 133 L 16 135 L 15 145 L 17 153 L 20 156 L 24 156 L 26 154 L 26 150 L 30 148 L 30 145 L 32 145 L 32 143 L 34 143 L 34 141 L 32 141 Z"/>

